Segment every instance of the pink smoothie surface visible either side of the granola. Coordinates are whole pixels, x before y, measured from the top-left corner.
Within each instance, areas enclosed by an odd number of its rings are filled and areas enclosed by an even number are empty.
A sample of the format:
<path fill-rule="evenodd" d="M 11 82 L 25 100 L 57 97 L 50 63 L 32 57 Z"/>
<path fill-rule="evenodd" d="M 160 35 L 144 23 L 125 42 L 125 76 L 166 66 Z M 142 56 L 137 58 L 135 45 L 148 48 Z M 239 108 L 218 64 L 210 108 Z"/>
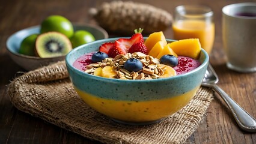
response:
<path fill-rule="evenodd" d="M 73 63 L 73 66 L 78 68 L 78 70 L 85 71 L 85 66 L 92 63 L 91 56 L 93 53 L 94 52 L 82 55 L 76 59 L 76 61 Z M 192 59 L 186 56 L 178 56 L 178 65 L 174 67 L 174 70 L 177 72 L 177 75 L 179 75 L 192 71 L 200 65 L 201 63 L 196 59 Z"/>

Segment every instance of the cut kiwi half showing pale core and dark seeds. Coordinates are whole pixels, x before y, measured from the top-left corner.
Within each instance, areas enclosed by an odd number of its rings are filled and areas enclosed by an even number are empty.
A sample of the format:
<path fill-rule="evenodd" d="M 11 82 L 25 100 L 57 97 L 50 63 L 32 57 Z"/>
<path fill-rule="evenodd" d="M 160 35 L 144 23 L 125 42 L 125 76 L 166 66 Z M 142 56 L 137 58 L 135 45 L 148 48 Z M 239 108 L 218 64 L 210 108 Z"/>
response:
<path fill-rule="evenodd" d="M 66 35 L 59 32 L 40 34 L 35 41 L 35 51 L 41 58 L 64 56 L 72 50 L 72 44 Z"/>

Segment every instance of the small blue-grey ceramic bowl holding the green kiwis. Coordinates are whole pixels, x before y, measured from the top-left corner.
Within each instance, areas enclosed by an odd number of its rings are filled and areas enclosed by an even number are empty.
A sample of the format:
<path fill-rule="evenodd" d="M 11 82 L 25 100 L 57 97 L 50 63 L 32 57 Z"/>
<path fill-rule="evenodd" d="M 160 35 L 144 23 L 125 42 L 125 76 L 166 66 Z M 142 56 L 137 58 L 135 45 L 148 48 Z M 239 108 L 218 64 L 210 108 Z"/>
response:
<path fill-rule="evenodd" d="M 85 31 L 91 32 L 96 40 L 109 37 L 105 29 L 100 28 L 99 26 L 78 24 L 73 24 L 73 26 L 75 31 L 83 29 Z M 39 58 L 36 56 L 27 56 L 19 53 L 20 43 L 22 43 L 22 40 L 28 35 L 39 34 L 39 32 L 40 26 L 33 26 L 30 28 L 22 29 L 7 39 L 6 47 L 8 54 L 10 55 L 11 59 L 16 62 L 16 64 L 20 65 L 20 67 L 24 68 L 25 70 L 34 70 L 35 68 L 49 65 L 52 62 L 62 61 L 65 59 L 65 56 L 58 56 L 54 58 Z"/>

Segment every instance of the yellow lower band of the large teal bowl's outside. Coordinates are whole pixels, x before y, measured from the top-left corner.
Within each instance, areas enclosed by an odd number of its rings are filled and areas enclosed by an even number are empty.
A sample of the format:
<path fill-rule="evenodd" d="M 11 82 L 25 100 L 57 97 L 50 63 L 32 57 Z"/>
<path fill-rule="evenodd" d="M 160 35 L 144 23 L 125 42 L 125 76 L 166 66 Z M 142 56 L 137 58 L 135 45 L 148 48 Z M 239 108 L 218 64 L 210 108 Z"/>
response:
<path fill-rule="evenodd" d="M 148 122 L 165 118 L 180 110 L 194 97 L 200 86 L 181 95 L 150 101 L 117 101 L 100 98 L 75 88 L 89 106 L 111 118 L 126 122 Z M 182 101 L 182 103 L 181 103 Z"/>

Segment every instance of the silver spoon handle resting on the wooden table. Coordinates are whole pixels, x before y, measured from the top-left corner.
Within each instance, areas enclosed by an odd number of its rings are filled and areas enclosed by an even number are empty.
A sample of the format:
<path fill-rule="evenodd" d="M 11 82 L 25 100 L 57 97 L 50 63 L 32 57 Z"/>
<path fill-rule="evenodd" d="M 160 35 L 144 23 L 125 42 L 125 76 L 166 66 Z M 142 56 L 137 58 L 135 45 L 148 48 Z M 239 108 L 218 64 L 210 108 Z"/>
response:
<path fill-rule="evenodd" d="M 226 92 L 224 92 L 218 85 L 212 85 L 212 88 L 223 98 L 225 103 L 230 107 L 230 110 L 236 119 L 237 124 L 244 131 L 256 132 L 256 120 L 239 104 L 236 103 Z"/>

